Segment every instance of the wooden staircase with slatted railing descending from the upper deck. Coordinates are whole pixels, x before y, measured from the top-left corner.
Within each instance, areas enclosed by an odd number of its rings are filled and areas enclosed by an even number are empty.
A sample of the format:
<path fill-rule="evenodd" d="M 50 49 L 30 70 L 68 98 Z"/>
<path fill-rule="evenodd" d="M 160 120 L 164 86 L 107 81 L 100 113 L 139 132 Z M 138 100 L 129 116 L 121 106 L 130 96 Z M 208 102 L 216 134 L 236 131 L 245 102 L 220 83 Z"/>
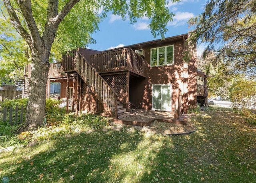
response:
<path fill-rule="evenodd" d="M 79 74 L 114 119 L 130 115 L 130 112 L 126 111 L 126 108 L 123 108 L 123 105 L 118 101 L 116 92 L 77 50 L 68 53 L 64 57 L 62 64 L 64 72 L 76 72 Z"/>

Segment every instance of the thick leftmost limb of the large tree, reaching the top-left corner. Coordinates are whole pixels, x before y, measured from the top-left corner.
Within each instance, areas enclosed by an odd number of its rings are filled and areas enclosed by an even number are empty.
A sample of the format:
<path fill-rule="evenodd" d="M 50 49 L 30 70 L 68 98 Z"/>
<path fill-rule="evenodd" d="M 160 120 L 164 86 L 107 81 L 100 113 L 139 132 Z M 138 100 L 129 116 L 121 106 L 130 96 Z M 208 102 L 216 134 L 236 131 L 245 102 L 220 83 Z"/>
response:
<path fill-rule="evenodd" d="M 12 7 L 10 0 L 4 0 L 4 6 L 10 16 L 10 22 L 12 26 L 17 30 L 17 32 L 22 36 L 22 38 L 30 45 L 32 43 L 30 34 L 23 28 L 20 23 L 20 20 Z"/>

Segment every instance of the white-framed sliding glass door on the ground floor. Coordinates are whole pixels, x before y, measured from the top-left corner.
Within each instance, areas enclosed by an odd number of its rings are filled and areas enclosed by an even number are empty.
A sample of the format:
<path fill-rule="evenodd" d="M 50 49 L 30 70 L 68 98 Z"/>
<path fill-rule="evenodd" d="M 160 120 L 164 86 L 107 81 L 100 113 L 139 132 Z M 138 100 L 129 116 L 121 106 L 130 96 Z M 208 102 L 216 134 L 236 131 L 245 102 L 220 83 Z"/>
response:
<path fill-rule="evenodd" d="M 152 109 L 172 111 L 172 86 L 152 85 Z"/>

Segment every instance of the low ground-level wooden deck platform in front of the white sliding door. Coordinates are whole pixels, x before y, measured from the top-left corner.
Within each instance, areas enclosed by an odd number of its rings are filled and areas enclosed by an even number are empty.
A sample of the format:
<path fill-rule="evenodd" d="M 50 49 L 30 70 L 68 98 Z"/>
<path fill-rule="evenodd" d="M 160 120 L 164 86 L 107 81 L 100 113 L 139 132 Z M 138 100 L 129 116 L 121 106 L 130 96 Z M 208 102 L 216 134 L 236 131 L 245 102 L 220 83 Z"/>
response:
<path fill-rule="evenodd" d="M 148 126 L 154 120 L 185 125 L 187 116 L 181 115 L 180 119 L 175 119 L 174 112 L 130 109 L 129 116 L 122 119 L 114 119 L 114 122 L 126 125 Z"/>

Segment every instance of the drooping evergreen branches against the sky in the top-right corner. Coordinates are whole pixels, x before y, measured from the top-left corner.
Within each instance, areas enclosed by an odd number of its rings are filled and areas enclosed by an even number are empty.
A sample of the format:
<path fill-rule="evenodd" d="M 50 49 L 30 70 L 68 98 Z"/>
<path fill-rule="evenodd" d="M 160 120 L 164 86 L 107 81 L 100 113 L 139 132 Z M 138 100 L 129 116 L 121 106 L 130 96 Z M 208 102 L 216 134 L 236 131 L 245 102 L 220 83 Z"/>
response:
<path fill-rule="evenodd" d="M 190 20 L 196 25 L 190 39 L 216 52 L 212 62 L 223 62 L 236 72 L 256 76 L 256 1 L 210 0 L 204 13 Z"/>

